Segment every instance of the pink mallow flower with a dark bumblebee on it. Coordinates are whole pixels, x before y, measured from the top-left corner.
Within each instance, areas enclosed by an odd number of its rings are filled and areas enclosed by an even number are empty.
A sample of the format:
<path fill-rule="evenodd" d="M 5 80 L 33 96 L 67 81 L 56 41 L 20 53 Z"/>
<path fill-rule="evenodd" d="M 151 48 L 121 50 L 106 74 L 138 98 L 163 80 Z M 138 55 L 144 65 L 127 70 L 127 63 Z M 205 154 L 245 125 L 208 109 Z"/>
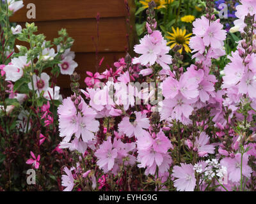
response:
<path fill-rule="evenodd" d="M 136 136 L 136 138 L 143 135 L 143 129 L 148 129 L 150 124 L 145 113 L 134 112 L 136 115 L 135 120 L 131 120 L 130 117 L 124 117 L 124 119 L 118 124 L 118 132 L 122 132 L 129 138 Z"/>

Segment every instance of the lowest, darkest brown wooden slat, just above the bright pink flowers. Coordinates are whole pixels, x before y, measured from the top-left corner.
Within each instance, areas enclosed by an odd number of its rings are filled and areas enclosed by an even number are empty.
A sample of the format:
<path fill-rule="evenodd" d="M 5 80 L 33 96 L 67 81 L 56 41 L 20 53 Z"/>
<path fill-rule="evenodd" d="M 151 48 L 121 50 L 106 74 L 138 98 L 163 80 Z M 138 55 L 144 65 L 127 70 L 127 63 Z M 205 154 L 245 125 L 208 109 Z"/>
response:
<path fill-rule="evenodd" d="M 109 52 L 109 53 L 100 53 L 99 54 L 99 61 L 104 57 L 104 61 L 102 62 L 102 65 L 100 66 L 99 72 L 102 73 L 107 68 L 113 67 L 113 63 L 118 61 L 121 57 L 125 57 L 124 52 Z M 84 78 L 88 77 L 86 75 L 86 71 L 91 71 L 92 73 L 96 72 L 95 64 L 96 64 L 96 58 L 95 53 L 76 53 L 76 58 L 74 59 L 78 67 L 75 69 L 79 75 L 81 75 L 80 85 L 81 87 L 85 87 L 84 84 Z M 49 71 L 49 70 L 48 70 Z M 57 84 L 62 88 L 69 88 L 70 87 L 70 76 L 69 75 L 60 75 L 58 77 Z"/>

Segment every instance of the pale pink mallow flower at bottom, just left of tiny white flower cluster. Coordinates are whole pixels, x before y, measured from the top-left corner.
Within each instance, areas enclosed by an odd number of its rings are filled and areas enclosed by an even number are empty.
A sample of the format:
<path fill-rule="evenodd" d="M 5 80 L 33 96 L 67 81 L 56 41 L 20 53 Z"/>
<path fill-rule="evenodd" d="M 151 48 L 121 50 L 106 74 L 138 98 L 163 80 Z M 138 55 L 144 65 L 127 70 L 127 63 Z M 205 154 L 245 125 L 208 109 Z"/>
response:
<path fill-rule="evenodd" d="M 192 164 L 181 163 L 180 166 L 174 166 L 172 176 L 177 178 L 174 180 L 177 191 L 194 191 L 196 179 Z"/>

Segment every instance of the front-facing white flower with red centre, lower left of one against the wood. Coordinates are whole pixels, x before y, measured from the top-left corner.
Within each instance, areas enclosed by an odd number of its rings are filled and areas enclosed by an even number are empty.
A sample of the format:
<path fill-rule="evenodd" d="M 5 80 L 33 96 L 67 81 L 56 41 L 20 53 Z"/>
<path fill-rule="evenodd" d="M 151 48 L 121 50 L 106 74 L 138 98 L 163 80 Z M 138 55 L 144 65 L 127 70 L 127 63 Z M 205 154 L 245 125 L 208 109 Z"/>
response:
<path fill-rule="evenodd" d="M 49 87 L 49 79 L 49 75 L 47 75 L 47 73 L 44 72 L 41 73 L 40 77 L 33 75 L 34 90 L 38 90 L 39 92 L 47 91 Z M 31 82 L 29 82 L 28 87 L 30 90 L 33 90 Z"/>

